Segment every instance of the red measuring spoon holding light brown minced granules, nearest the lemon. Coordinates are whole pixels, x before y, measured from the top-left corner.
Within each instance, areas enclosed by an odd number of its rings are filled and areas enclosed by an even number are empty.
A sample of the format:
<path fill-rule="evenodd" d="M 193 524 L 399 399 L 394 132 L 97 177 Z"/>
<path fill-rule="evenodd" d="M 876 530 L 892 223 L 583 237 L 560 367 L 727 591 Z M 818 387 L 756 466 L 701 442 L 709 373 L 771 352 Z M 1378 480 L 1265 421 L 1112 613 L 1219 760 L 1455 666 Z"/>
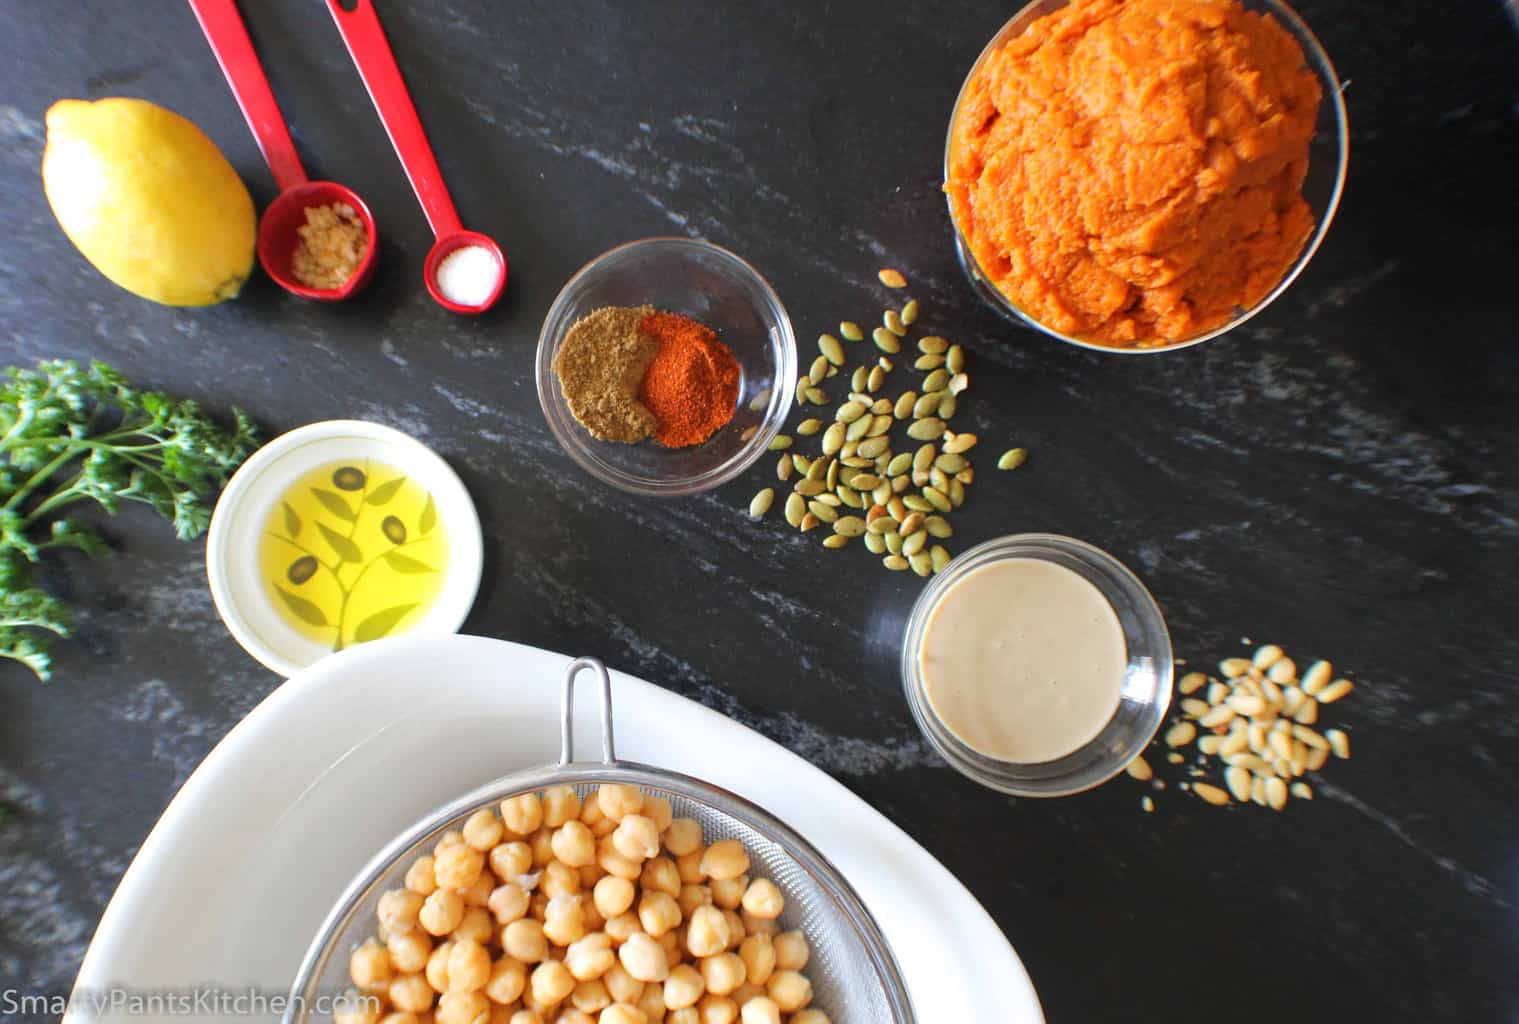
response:
<path fill-rule="evenodd" d="M 264 68 L 254 52 L 254 41 L 248 38 L 243 18 L 237 14 L 235 0 L 190 0 L 201 30 L 205 32 L 216 62 L 222 65 L 226 84 L 232 87 L 232 96 L 248 120 L 248 128 L 258 141 L 258 152 L 264 155 L 264 163 L 275 176 L 279 194 L 263 217 L 258 219 L 258 261 L 264 272 L 286 292 L 336 302 L 352 296 L 369 283 L 375 269 L 375 252 L 380 235 L 375 231 L 374 214 L 352 188 L 339 185 L 334 181 L 310 181 L 301 166 L 301 156 L 290 141 L 290 129 L 286 128 L 284 114 L 269 88 Z M 298 229 L 305 225 L 307 207 L 330 207 L 333 204 L 348 204 L 365 225 L 369 245 L 358 269 L 336 289 L 313 289 L 301 284 L 290 272 L 290 257 L 301 240 Z"/>

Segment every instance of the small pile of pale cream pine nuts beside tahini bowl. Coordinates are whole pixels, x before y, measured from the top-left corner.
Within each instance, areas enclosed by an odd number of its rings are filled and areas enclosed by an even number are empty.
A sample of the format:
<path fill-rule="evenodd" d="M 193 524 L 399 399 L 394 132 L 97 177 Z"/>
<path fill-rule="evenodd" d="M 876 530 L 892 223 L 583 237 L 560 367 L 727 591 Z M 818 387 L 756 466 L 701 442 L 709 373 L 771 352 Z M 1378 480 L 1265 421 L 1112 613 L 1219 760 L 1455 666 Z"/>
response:
<path fill-rule="evenodd" d="M 1315 661 L 1299 676 L 1297 662 L 1277 644 L 1265 644 L 1253 658 L 1224 658 L 1218 676 L 1189 672 L 1177 684 L 1179 714 L 1161 738 L 1168 747 L 1167 763 L 1185 764 L 1183 751 L 1195 743 L 1188 769 L 1192 779 L 1223 767 L 1223 785 L 1180 785 L 1214 807 L 1238 802 L 1279 811 L 1288 798 L 1312 799 L 1303 776 L 1322 770 L 1331 757 L 1350 757 L 1350 737 L 1343 729 L 1314 728 L 1318 713 L 1353 688 L 1349 679 L 1334 678 L 1328 661 Z M 1159 782 L 1142 755 L 1129 764 L 1129 775 Z M 1153 802 L 1145 807 L 1151 808 Z"/>

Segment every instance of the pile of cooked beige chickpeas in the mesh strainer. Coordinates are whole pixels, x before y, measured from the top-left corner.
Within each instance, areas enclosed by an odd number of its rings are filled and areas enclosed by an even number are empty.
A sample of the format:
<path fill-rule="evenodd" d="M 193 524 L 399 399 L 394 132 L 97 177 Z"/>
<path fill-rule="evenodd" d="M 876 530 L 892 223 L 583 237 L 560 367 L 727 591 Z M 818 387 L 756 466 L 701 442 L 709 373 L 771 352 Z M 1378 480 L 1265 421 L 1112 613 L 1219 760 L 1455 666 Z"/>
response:
<path fill-rule="evenodd" d="M 512 796 L 380 896 L 334 1021 L 829 1024 L 784 907 L 741 842 L 638 787 Z"/>

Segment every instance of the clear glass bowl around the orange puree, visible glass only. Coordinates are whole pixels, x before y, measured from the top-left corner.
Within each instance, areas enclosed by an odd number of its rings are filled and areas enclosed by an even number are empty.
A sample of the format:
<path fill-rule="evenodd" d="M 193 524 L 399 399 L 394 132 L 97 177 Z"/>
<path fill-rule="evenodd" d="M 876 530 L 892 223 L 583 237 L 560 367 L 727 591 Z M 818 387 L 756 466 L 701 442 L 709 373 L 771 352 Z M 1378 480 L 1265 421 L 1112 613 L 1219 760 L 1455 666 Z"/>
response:
<path fill-rule="evenodd" d="M 945 181 L 949 179 L 949 149 L 954 143 L 954 123 L 960 115 L 960 103 L 965 100 L 966 85 L 971 84 L 971 79 L 998 47 L 1009 40 L 1022 35 L 1033 21 L 1037 21 L 1051 11 L 1059 11 L 1066 6 L 1069 0 L 1033 0 L 1033 3 L 1009 18 L 1007 24 L 1004 24 L 996 35 L 992 36 L 992 41 L 986 44 L 981 55 L 975 58 L 975 64 L 972 64 L 971 70 L 966 73 L 965 82 L 960 84 L 960 93 L 955 96 L 954 111 L 949 114 L 949 131 L 945 132 Z M 1346 120 L 1344 96 L 1340 93 L 1340 77 L 1335 74 L 1334 65 L 1329 62 L 1329 55 L 1325 53 L 1318 38 L 1296 11 L 1288 8 L 1285 3 L 1281 3 L 1281 0 L 1241 0 L 1241 3 L 1246 11 L 1268 12 L 1273 18 L 1276 18 L 1277 24 L 1287 29 L 1293 38 L 1297 40 L 1297 44 L 1303 49 L 1303 58 L 1308 61 L 1308 67 L 1318 76 L 1318 85 L 1323 88 L 1323 100 L 1318 103 L 1318 123 L 1315 125 L 1314 138 L 1308 146 L 1308 178 L 1303 179 L 1303 199 L 1308 201 L 1308 207 L 1314 213 L 1315 226 L 1314 232 L 1308 235 L 1308 242 L 1303 243 L 1302 252 L 1297 254 L 1297 260 L 1294 260 L 1293 266 L 1287 269 L 1287 273 L 1284 273 L 1282 280 L 1276 283 L 1276 287 L 1267 292 L 1265 296 L 1250 308 L 1236 310 L 1233 319 L 1227 324 L 1215 327 L 1203 334 L 1197 334 L 1195 337 L 1188 337 L 1171 345 L 1159 345 L 1154 348 L 1116 348 L 1112 345 L 1098 345 L 1097 342 L 1063 334 L 1053 327 L 1041 324 L 1033 316 L 1018 308 L 1012 299 L 1003 295 L 981 272 L 981 266 L 971 252 L 971 246 L 966 245 L 965 235 L 960 232 L 960 225 L 955 223 L 954 210 L 951 208 L 949 223 L 954 226 L 954 248 L 955 255 L 960 260 L 960 269 L 965 270 L 966 278 L 971 280 L 971 287 L 975 289 L 977 295 L 980 295 L 987 305 L 1009 319 L 1027 324 L 1050 337 L 1057 337 L 1062 342 L 1069 342 L 1071 345 L 1080 345 L 1082 348 L 1089 348 L 1097 352 L 1148 356 L 1153 352 L 1174 352 L 1182 348 L 1191 348 L 1192 345 L 1202 345 L 1206 340 L 1232 331 L 1274 302 L 1276 298 L 1297 280 L 1297 275 L 1303 272 L 1303 267 L 1308 266 L 1314 252 L 1318 251 L 1318 245 L 1325 240 L 1325 234 L 1329 231 L 1329 223 L 1334 220 L 1335 210 L 1340 208 L 1340 196 L 1344 191 L 1344 175 L 1350 160 L 1350 129 Z"/>

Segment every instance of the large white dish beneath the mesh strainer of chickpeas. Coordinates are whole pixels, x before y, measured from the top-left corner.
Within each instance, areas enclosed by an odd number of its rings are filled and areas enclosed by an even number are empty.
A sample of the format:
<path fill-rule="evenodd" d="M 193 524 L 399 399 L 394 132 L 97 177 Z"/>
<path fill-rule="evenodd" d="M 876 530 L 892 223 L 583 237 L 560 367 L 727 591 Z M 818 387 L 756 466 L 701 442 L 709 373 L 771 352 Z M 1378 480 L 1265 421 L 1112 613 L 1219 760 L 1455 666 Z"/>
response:
<path fill-rule="evenodd" d="M 500 640 L 398 637 L 290 679 L 164 811 L 100 919 L 76 994 L 287 992 L 324 916 L 375 851 L 448 799 L 557 757 L 565 664 Z M 620 757 L 755 801 L 843 872 L 886 933 L 924 1024 L 1044 1021 L 996 924 L 886 817 L 699 703 L 620 673 L 612 696 Z M 592 705 L 577 708 L 582 743 L 595 735 Z"/>

